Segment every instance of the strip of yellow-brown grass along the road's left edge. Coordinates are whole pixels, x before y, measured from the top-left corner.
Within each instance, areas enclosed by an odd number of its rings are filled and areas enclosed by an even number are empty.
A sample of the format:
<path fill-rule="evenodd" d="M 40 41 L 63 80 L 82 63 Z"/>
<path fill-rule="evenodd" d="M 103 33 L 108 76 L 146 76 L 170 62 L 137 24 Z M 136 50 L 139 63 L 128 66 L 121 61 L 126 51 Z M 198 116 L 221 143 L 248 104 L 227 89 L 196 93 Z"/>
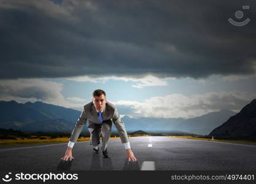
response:
<path fill-rule="evenodd" d="M 111 139 L 118 139 L 120 137 L 111 137 Z M 88 141 L 90 137 L 82 137 L 77 139 L 77 142 Z M 15 139 L 0 139 L 0 145 L 20 145 L 20 144 L 48 144 L 48 143 L 68 143 L 69 137 L 50 136 L 31 136 L 29 139 L 24 137 L 15 137 Z"/>

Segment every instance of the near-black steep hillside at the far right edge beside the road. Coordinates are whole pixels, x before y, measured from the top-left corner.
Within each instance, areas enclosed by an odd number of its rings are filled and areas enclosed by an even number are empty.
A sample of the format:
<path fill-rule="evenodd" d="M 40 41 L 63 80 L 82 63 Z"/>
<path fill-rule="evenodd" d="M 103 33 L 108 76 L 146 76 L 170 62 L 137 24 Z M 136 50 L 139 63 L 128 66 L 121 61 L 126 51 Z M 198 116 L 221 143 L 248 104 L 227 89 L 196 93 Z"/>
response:
<path fill-rule="evenodd" d="M 256 137 L 256 99 L 247 104 L 236 115 L 215 128 L 210 136 Z"/>

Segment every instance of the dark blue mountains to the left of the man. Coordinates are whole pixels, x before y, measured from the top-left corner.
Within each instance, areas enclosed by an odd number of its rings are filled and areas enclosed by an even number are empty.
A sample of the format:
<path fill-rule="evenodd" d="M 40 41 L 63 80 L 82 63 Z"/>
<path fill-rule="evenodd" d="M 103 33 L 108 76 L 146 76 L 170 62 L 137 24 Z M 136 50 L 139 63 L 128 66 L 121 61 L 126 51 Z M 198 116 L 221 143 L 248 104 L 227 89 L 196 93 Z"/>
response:
<path fill-rule="evenodd" d="M 80 113 L 78 110 L 39 101 L 25 104 L 16 101 L 0 101 L 0 128 L 38 131 L 37 127 L 42 126 L 42 122 L 44 122 L 48 124 L 48 128 L 45 128 L 47 131 L 68 131 L 70 127 L 74 128 Z M 63 122 L 68 125 L 64 125 Z M 51 123 L 54 126 L 50 126 Z M 63 126 L 63 129 L 56 125 L 58 123 Z M 85 127 L 85 129 L 87 128 Z"/>

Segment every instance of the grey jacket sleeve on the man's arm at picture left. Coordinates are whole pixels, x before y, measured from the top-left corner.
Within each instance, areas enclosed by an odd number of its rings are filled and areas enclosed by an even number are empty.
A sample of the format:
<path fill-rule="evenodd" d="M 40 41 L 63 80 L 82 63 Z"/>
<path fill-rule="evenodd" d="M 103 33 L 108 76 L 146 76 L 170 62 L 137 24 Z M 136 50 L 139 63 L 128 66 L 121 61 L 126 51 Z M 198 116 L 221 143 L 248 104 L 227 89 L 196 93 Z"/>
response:
<path fill-rule="evenodd" d="M 80 133 L 82 132 L 83 125 L 85 125 L 86 121 L 87 121 L 87 115 L 85 113 L 85 109 L 83 108 L 83 111 L 82 111 L 80 117 L 77 119 L 75 128 L 73 129 L 73 131 L 71 133 L 69 141 L 77 142 L 77 139 L 78 139 Z"/>

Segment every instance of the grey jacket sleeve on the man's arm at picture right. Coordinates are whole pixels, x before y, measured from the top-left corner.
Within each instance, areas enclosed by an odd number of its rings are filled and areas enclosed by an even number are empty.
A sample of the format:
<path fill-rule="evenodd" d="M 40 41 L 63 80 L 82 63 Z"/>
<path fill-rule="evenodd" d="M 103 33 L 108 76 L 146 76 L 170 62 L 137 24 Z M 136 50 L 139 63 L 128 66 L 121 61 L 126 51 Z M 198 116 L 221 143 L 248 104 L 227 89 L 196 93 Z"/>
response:
<path fill-rule="evenodd" d="M 126 129 L 125 129 L 125 123 L 123 123 L 123 120 L 121 120 L 120 115 L 118 114 L 116 107 L 115 107 L 115 110 L 114 110 L 114 115 L 113 115 L 112 121 L 113 121 L 115 127 L 117 128 L 118 134 L 121 138 L 121 142 L 122 143 L 129 142 L 127 132 L 126 132 Z"/>

